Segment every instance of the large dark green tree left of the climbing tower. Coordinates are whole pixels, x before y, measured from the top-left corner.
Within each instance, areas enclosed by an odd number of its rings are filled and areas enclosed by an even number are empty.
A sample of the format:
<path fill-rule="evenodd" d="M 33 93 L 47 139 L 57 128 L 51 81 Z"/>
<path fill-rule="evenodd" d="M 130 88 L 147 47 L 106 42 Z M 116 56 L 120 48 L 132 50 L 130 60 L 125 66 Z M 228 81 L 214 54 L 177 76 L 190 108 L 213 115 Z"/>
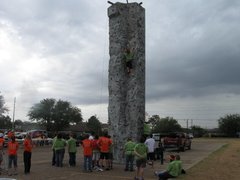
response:
<path fill-rule="evenodd" d="M 38 122 L 47 131 L 60 131 L 82 121 L 81 110 L 68 101 L 43 99 L 31 107 L 28 113 L 31 121 Z"/>

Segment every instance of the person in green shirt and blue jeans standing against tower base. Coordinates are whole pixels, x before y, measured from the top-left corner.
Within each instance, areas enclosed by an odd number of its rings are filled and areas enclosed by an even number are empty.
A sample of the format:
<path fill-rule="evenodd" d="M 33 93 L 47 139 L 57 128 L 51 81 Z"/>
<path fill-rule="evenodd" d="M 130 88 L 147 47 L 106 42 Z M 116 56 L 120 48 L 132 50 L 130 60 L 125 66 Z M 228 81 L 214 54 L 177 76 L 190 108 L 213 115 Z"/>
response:
<path fill-rule="evenodd" d="M 124 155 L 125 155 L 125 171 L 133 171 L 133 161 L 134 161 L 134 147 L 136 143 L 128 138 L 127 142 L 124 144 Z"/>

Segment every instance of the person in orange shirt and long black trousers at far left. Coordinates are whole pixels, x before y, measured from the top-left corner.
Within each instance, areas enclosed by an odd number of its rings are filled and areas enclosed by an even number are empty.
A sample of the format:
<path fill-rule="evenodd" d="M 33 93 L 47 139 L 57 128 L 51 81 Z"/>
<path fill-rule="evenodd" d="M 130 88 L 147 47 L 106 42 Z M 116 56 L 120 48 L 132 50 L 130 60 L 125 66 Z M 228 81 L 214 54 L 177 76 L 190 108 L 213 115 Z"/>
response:
<path fill-rule="evenodd" d="M 24 151 L 23 151 L 23 161 L 24 161 L 24 173 L 28 174 L 30 173 L 31 168 L 31 157 L 32 157 L 32 139 L 29 134 L 27 134 L 26 138 L 23 142 Z"/>

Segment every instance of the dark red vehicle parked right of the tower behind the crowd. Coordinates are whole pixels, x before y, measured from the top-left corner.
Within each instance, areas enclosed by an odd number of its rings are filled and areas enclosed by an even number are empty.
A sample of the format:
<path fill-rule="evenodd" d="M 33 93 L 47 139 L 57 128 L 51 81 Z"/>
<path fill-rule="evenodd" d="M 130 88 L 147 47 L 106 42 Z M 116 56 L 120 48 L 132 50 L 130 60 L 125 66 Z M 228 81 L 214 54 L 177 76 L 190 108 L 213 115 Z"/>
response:
<path fill-rule="evenodd" d="M 191 138 L 184 132 L 169 133 L 163 138 L 163 146 L 165 149 L 177 148 L 179 151 L 185 151 L 186 148 L 191 149 L 191 145 Z"/>

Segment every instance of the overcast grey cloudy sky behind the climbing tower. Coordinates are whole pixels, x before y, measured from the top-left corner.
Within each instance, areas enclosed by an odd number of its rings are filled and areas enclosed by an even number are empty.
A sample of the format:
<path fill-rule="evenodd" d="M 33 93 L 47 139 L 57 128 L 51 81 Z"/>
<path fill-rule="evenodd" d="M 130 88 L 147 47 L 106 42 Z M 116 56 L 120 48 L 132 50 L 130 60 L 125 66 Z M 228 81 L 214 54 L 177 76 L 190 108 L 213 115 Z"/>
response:
<path fill-rule="evenodd" d="M 129 2 L 146 10 L 146 112 L 204 128 L 240 113 L 240 1 Z M 14 97 L 21 120 L 55 98 L 78 106 L 85 121 L 96 114 L 107 122 L 109 6 L 0 1 L 0 91 L 10 117 Z"/>

